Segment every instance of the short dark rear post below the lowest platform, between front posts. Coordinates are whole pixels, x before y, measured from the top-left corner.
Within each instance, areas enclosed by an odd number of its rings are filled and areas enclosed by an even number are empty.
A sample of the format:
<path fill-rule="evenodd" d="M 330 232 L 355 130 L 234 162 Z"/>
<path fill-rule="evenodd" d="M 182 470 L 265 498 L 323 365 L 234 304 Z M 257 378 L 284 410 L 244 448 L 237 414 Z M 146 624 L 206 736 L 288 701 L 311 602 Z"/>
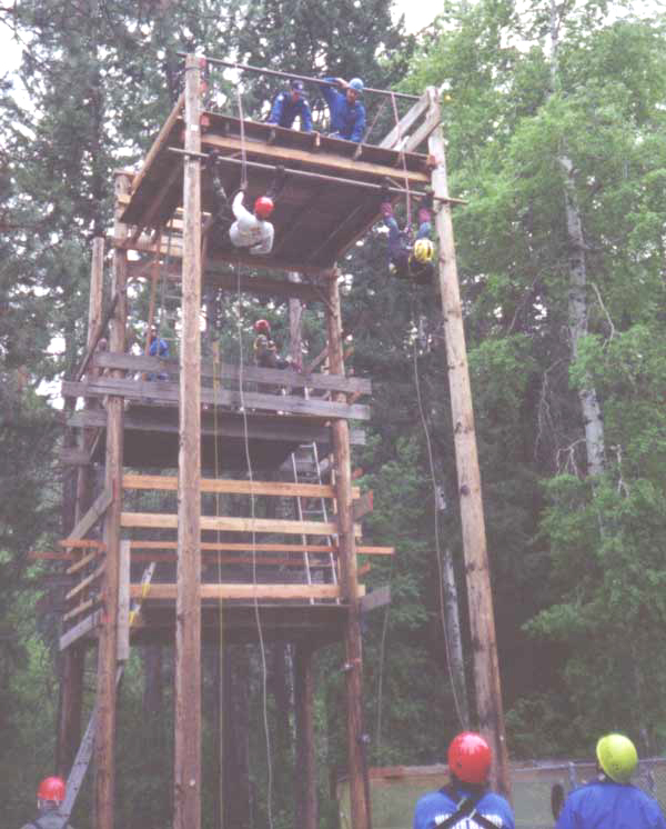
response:
<path fill-rule="evenodd" d="M 316 752 L 314 746 L 314 650 L 296 645 L 294 657 L 294 706 L 296 713 L 296 820 L 300 829 L 316 829 Z"/>

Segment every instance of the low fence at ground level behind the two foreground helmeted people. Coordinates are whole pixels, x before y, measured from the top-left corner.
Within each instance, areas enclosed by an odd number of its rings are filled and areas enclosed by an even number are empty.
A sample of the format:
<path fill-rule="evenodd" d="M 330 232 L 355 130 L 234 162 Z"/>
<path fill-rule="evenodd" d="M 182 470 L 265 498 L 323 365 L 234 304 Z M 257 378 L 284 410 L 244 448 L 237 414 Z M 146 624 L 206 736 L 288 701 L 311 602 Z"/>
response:
<path fill-rule="evenodd" d="M 594 762 L 543 760 L 512 763 L 512 801 L 516 829 L 553 829 L 553 787 L 561 786 L 565 796 L 594 779 Z M 370 770 L 373 829 L 411 829 L 416 800 L 435 791 L 448 779 L 446 766 L 395 766 Z M 632 780 L 656 798 L 666 813 L 666 759 L 640 760 Z M 337 783 L 341 829 L 352 829 L 349 783 Z"/>

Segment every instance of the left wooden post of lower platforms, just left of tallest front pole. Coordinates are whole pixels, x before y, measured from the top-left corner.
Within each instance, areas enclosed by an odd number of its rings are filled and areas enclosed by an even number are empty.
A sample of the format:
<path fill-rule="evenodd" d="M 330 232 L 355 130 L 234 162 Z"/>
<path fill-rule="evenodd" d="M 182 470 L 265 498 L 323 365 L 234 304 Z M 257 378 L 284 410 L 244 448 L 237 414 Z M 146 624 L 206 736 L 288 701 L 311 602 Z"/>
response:
<path fill-rule="evenodd" d="M 128 229 L 120 221 L 122 207 L 120 196 L 128 193 L 130 180 L 120 174 L 115 179 L 114 233 L 127 237 Z M 127 253 L 117 249 L 113 253 L 112 293 L 118 294 L 115 311 L 111 318 L 110 348 L 124 351 L 128 304 L 125 294 Z M 122 371 L 112 372 L 122 376 Z M 105 489 L 112 499 L 104 515 L 104 541 L 107 542 L 107 572 L 102 580 L 103 615 L 98 646 L 98 697 L 95 757 L 95 829 L 113 829 L 113 796 L 115 787 L 115 673 L 118 639 L 118 569 L 120 559 L 120 513 L 122 511 L 122 439 L 124 404 L 122 397 L 109 396 L 107 400 L 107 468 Z"/>

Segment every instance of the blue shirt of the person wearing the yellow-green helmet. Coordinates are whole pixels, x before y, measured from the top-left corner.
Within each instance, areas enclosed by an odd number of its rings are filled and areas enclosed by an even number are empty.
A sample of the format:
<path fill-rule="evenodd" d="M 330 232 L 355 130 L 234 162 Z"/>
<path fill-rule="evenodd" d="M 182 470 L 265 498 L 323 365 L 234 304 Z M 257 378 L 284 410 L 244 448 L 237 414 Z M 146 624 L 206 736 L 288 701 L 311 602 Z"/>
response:
<path fill-rule="evenodd" d="M 597 780 L 567 797 L 557 829 L 666 829 L 658 802 L 628 783 Z"/>

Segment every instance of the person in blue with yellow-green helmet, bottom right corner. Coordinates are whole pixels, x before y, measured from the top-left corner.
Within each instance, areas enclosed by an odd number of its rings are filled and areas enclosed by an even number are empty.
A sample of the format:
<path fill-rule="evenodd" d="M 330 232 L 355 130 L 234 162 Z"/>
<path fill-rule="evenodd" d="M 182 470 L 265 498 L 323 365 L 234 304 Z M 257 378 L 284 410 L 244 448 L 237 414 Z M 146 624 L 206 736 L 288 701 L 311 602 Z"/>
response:
<path fill-rule="evenodd" d="M 629 780 L 638 765 L 628 737 L 610 733 L 596 745 L 599 775 L 564 801 L 557 829 L 666 829 L 658 802 Z"/>

